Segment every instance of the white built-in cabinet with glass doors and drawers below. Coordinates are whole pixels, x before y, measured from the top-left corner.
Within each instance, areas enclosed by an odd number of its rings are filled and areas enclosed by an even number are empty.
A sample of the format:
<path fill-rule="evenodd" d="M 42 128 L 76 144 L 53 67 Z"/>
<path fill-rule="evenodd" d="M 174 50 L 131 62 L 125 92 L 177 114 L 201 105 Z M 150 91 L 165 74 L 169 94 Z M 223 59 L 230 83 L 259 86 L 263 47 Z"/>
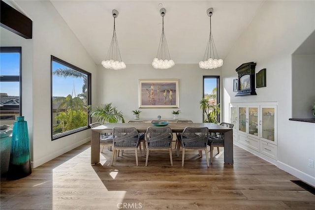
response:
<path fill-rule="evenodd" d="M 277 102 L 230 103 L 229 119 L 236 145 L 277 160 Z"/>

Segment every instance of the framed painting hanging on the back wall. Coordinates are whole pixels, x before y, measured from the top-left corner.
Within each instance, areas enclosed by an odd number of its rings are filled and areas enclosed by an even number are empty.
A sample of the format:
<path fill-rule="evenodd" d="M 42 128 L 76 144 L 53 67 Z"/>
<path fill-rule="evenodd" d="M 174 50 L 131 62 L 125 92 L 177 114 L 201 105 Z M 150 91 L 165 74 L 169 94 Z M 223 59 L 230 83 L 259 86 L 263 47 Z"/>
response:
<path fill-rule="evenodd" d="M 179 80 L 139 79 L 139 108 L 179 108 Z"/>

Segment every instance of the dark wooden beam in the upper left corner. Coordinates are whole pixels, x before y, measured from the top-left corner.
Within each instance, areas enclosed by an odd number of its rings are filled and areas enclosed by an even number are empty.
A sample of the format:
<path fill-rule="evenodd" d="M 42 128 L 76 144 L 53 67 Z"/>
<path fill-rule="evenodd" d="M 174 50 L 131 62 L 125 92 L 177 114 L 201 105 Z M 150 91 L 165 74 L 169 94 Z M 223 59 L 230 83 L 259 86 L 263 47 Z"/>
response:
<path fill-rule="evenodd" d="M 1 27 L 26 39 L 32 39 L 32 20 L 1 0 Z"/>

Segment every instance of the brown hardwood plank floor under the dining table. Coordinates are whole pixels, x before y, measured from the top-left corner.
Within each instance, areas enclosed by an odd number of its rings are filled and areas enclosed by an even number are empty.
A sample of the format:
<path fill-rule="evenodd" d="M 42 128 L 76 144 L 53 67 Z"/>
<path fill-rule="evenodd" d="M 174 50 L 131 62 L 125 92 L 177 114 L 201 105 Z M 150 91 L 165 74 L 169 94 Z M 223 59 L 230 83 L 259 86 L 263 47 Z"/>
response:
<path fill-rule="evenodd" d="M 173 167 L 165 150 L 150 151 L 147 167 L 140 152 L 135 165 L 132 150 L 110 166 L 106 149 L 91 166 L 90 149 L 90 143 L 82 145 L 20 180 L 1 178 L 0 209 L 315 209 L 315 195 L 290 181 L 297 178 L 236 146 L 233 166 L 223 164 L 221 152 L 210 168 L 197 151 L 187 151 L 182 168 L 175 150 Z"/>

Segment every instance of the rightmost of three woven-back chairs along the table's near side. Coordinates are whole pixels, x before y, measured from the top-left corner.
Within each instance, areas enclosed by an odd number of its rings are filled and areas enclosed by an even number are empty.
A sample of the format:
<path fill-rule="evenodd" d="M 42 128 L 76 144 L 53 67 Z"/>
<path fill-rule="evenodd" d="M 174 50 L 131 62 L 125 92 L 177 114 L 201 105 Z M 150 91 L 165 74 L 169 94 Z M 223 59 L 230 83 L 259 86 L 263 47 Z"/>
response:
<path fill-rule="evenodd" d="M 208 127 L 186 127 L 181 135 L 180 143 L 183 148 L 182 167 L 184 167 L 185 151 L 198 150 L 202 157 L 202 150 L 206 153 L 207 166 L 209 167 L 207 143 L 209 128 Z"/>

